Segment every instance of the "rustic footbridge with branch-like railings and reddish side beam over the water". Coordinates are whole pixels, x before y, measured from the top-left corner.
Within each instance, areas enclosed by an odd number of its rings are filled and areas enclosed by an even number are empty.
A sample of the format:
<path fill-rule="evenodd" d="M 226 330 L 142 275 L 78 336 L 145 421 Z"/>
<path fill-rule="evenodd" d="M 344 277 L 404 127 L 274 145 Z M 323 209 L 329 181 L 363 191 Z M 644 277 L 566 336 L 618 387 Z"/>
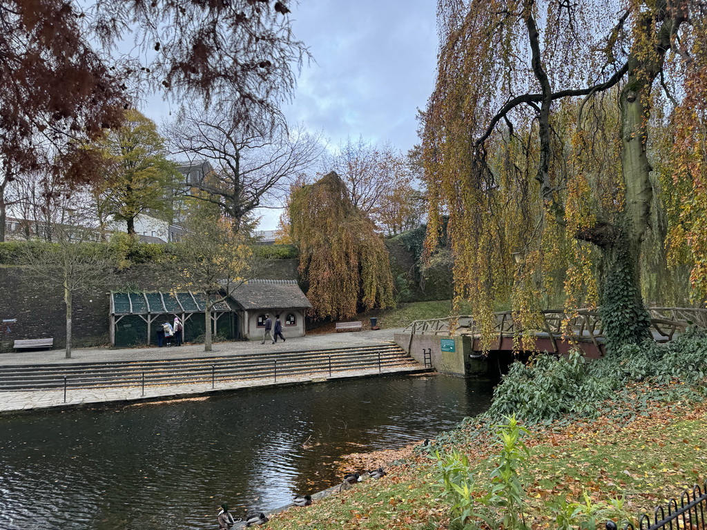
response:
<path fill-rule="evenodd" d="M 650 307 L 650 334 L 656 342 L 672 341 L 688 326 L 707 328 L 707 309 L 696 307 Z M 549 351 L 565 354 L 573 346 L 589 358 L 604 354 L 606 335 L 598 310 L 544 310 L 534 329 L 522 329 L 511 311 L 493 313 L 491 351 Z M 471 315 L 416 320 L 404 331 L 410 336 L 461 336 L 471 339 L 471 349 L 481 353 L 481 326 Z M 522 346 L 519 346 L 522 341 Z M 532 347 L 531 347 L 532 346 Z"/>

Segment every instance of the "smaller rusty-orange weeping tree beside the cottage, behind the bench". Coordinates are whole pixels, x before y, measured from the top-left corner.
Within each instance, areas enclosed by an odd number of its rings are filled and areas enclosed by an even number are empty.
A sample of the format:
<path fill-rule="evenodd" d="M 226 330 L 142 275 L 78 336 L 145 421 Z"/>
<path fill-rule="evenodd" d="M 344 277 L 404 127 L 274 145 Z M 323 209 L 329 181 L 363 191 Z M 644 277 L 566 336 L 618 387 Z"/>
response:
<path fill-rule="evenodd" d="M 290 198 L 290 233 L 300 249 L 300 275 L 315 317 L 349 318 L 358 308 L 393 303 L 390 261 L 373 223 L 330 172 Z"/>

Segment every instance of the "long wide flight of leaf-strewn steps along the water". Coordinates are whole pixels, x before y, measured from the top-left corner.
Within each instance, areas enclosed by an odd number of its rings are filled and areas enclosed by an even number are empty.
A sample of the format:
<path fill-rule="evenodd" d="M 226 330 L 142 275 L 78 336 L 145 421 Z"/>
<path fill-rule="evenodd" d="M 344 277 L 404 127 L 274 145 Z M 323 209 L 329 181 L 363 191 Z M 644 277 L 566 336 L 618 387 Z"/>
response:
<path fill-rule="evenodd" d="M 395 344 L 315 351 L 243 353 L 208 358 L 0 367 L 0 391 L 139 387 L 264 379 L 344 370 L 390 371 L 421 366 Z"/>

